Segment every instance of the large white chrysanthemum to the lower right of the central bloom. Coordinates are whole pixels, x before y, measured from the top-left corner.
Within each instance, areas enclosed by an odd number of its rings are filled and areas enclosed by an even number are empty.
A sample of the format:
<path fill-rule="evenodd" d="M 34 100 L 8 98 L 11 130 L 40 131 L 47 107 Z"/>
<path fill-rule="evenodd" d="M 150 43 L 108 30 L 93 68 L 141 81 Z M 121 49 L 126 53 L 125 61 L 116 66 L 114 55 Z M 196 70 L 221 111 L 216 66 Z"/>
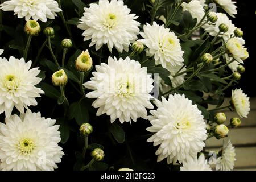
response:
<path fill-rule="evenodd" d="M 148 120 L 152 124 L 147 131 L 155 133 L 147 141 L 160 144 L 156 155 L 158 161 L 167 158 L 167 163 L 183 163 L 194 158 L 205 146 L 207 130 L 204 117 L 197 105 L 184 94 L 169 96 L 168 101 L 155 100 L 157 110 L 151 110 Z"/>

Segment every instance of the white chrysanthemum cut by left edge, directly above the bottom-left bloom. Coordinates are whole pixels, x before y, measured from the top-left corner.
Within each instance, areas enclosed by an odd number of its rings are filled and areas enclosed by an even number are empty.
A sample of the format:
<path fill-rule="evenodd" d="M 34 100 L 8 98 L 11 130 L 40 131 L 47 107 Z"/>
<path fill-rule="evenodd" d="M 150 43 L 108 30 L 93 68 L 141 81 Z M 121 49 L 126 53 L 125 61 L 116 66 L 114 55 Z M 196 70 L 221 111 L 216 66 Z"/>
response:
<path fill-rule="evenodd" d="M 24 107 L 35 106 L 35 98 L 43 94 L 43 90 L 36 88 L 42 80 L 38 76 L 40 70 L 31 67 L 32 62 L 15 59 L 11 56 L 9 61 L 3 59 L 0 64 L 0 114 L 5 112 L 9 118 L 13 107 L 24 113 Z"/>

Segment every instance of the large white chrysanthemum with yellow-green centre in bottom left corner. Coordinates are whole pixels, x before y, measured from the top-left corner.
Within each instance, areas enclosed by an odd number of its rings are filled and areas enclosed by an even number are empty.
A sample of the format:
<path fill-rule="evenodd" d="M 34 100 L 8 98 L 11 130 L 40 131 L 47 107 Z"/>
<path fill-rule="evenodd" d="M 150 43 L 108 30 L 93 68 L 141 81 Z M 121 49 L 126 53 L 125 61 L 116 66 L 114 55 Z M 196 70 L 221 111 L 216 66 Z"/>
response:
<path fill-rule="evenodd" d="M 14 171 L 49 171 L 57 168 L 64 155 L 56 120 L 42 118 L 27 110 L 20 117 L 11 115 L 0 123 L 0 169 Z"/>

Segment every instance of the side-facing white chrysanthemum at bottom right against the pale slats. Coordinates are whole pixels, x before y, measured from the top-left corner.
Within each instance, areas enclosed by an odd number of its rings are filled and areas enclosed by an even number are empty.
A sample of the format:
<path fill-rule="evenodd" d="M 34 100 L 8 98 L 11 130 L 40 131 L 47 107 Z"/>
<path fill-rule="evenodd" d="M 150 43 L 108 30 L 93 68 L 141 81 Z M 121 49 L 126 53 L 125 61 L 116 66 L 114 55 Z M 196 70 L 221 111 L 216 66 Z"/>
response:
<path fill-rule="evenodd" d="M 235 156 L 236 156 L 236 151 L 232 146 L 232 143 L 230 142 L 230 140 L 228 140 L 228 142 L 225 142 L 222 147 L 221 156 L 217 158 L 216 170 L 221 170 L 221 171 L 233 170 L 234 162 L 236 161 Z"/>

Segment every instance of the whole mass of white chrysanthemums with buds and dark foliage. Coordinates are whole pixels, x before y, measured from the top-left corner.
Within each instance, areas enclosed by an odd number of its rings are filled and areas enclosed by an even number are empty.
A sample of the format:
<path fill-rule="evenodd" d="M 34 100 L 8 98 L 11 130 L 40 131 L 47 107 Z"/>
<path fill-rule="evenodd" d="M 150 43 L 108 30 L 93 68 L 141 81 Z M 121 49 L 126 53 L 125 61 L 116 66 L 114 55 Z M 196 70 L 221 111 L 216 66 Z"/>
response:
<path fill-rule="evenodd" d="M 205 141 L 250 111 L 241 89 L 223 104 L 249 57 L 236 9 L 1 0 L 0 169 L 232 170 L 230 140 L 217 152 Z M 238 114 L 229 125 L 226 108 Z"/>

